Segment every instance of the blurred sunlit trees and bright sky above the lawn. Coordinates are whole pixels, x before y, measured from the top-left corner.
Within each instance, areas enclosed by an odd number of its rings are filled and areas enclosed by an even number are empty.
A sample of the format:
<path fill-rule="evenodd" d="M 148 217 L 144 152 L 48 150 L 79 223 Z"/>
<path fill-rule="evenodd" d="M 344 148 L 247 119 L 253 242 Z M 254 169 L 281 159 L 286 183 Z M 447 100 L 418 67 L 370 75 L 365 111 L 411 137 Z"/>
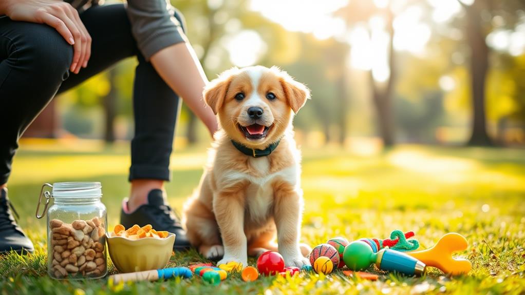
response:
<path fill-rule="evenodd" d="M 208 79 L 233 66 L 278 65 L 309 86 L 312 100 L 295 121 L 302 146 L 525 145 L 521 0 L 172 4 Z M 136 64 L 57 97 L 26 137 L 131 139 Z M 209 142 L 184 106 L 178 123 L 176 148 Z"/>

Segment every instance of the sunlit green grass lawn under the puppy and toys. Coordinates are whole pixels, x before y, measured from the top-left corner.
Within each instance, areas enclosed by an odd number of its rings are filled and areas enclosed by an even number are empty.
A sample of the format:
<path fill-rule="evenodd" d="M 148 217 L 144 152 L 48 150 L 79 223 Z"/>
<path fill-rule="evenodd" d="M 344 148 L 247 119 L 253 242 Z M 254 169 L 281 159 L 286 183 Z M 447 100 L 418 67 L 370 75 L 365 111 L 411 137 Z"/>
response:
<path fill-rule="evenodd" d="M 525 150 L 400 146 L 372 156 L 336 148 L 303 154 L 303 242 L 315 246 L 334 236 L 350 241 L 386 238 L 398 228 L 415 231 L 421 245 L 429 247 L 443 234 L 459 232 L 469 241 L 468 250 L 459 255 L 472 261 L 471 272 L 455 278 L 435 269 L 419 278 L 380 273 L 376 282 L 344 277 L 339 271 L 327 277 L 301 274 L 250 283 L 234 274 L 219 287 L 199 278 L 119 286 L 106 279 L 56 281 L 46 275 L 45 221 L 34 217 L 40 185 L 101 181 L 112 227 L 129 190 L 129 156 L 120 146 L 51 143 L 26 146 L 16 156 L 10 198 L 36 252 L 0 257 L 0 293 L 525 293 Z M 173 181 L 167 191 L 178 210 L 196 187 L 204 161 L 201 148 L 173 155 Z M 199 261 L 204 260 L 192 251 L 176 254 L 170 265 Z"/>

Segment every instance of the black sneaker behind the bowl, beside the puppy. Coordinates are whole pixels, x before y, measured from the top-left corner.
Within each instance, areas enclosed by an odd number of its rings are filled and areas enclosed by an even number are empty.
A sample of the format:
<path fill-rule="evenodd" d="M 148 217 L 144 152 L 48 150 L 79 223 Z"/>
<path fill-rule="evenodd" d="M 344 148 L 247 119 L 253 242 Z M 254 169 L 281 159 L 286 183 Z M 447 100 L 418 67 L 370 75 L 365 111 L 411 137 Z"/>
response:
<path fill-rule="evenodd" d="M 133 224 L 144 226 L 151 224 L 156 231 L 167 231 L 175 234 L 175 244 L 173 250 L 181 251 L 190 249 L 191 245 L 186 237 L 186 232 L 182 229 L 180 217 L 169 205 L 164 203 L 162 190 L 151 190 L 148 193 L 148 204 L 141 205 L 137 210 L 129 212 L 128 203 L 124 200 L 122 211 L 120 212 L 120 223 L 125 227 Z"/>

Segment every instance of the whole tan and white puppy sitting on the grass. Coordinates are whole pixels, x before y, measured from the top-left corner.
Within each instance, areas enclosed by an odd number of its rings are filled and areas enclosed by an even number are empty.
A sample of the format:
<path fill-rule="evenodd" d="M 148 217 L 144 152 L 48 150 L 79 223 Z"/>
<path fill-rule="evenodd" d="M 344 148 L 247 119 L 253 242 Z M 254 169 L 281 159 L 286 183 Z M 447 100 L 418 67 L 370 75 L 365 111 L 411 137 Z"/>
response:
<path fill-rule="evenodd" d="M 299 244 L 301 157 L 291 125 L 309 97 L 276 67 L 233 68 L 205 88 L 222 128 L 183 224 L 206 258 L 247 266 L 248 255 L 278 250 L 286 266 L 310 265 L 309 247 Z"/>

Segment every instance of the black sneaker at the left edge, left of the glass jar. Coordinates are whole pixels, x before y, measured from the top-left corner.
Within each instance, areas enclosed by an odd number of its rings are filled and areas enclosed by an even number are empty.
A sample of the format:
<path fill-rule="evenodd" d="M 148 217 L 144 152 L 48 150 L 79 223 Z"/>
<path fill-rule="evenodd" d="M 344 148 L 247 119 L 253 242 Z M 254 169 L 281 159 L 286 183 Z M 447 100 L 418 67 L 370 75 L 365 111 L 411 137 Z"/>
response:
<path fill-rule="evenodd" d="M 18 213 L 7 198 L 7 189 L 0 189 L 0 254 L 10 250 L 19 254 L 33 253 L 33 243 L 16 224 L 13 213 L 18 219 Z"/>

